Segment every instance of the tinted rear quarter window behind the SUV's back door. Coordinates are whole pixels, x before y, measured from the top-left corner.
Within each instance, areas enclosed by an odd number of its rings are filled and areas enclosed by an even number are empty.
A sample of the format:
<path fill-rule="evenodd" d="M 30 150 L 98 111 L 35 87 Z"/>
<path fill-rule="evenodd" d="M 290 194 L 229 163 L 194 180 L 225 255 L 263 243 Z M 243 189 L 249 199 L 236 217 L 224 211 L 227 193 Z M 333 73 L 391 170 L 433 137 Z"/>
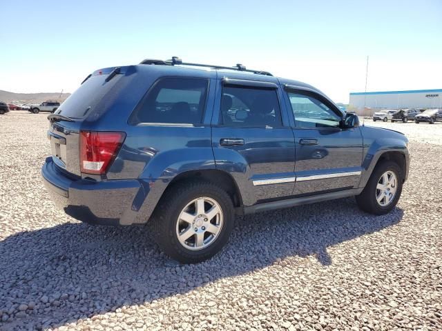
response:
<path fill-rule="evenodd" d="M 202 123 L 208 83 L 207 79 L 160 79 L 137 106 L 129 123 Z"/>

